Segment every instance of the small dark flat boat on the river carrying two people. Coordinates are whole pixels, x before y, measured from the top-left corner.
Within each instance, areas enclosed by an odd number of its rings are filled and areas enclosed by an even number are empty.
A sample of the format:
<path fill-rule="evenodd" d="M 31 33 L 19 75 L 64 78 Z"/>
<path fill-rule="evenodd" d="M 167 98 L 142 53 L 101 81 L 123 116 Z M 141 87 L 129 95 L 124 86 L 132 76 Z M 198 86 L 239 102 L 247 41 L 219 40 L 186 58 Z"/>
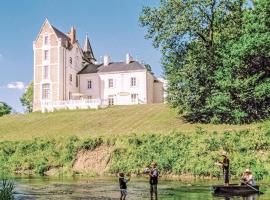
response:
<path fill-rule="evenodd" d="M 242 196 L 260 193 L 258 185 L 247 186 L 247 185 L 230 184 L 229 186 L 213 185 L 212 187 L 215 194 L 229 194 L 232 196 Z"/>

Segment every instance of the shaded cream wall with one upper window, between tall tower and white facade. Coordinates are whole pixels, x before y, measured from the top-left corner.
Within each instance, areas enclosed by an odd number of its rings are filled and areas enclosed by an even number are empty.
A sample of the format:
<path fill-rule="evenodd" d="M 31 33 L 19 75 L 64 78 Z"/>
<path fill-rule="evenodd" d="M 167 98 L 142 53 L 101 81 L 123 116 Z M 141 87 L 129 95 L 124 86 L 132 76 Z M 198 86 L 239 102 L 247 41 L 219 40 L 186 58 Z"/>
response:
<path fill-rule="evenodd" d="M 100 77 L 97 73 L 81 74 L 80 76 L 80 93 L 84 94 L 84 98 L 101 99 Z M 92 88 L 88 89 L 88 80 L 92 82 Z"/>

